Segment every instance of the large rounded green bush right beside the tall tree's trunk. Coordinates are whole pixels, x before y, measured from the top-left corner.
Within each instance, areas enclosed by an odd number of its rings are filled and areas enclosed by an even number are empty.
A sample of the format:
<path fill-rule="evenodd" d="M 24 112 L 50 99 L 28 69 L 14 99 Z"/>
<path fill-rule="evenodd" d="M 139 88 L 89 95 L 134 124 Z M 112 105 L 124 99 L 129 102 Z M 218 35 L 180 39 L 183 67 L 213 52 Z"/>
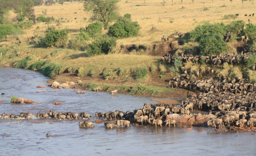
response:
<path fill-rule="evenodd" d="M 115 24 L 109 27 L 108 35 L 117 38 L 127 38 L 137 36 L 139 33 L 140 26 L 138 22 L 131 22 L 122 18 Z"/>

